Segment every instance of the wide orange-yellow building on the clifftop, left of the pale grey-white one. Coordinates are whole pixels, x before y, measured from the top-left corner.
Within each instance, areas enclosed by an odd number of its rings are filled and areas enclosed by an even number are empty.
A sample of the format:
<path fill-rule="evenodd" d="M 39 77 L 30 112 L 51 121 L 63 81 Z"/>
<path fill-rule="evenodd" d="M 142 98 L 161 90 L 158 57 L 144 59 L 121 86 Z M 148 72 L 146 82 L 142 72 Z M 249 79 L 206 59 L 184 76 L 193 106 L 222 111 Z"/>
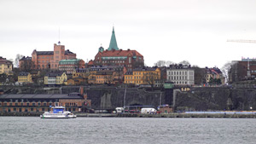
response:
<path fill-rule="evenodd" d="M 143 67 L 125 73 L 125 84 L 151 85 L 155 84 L 157 80 L 160 80 L 160 68 Z"/>

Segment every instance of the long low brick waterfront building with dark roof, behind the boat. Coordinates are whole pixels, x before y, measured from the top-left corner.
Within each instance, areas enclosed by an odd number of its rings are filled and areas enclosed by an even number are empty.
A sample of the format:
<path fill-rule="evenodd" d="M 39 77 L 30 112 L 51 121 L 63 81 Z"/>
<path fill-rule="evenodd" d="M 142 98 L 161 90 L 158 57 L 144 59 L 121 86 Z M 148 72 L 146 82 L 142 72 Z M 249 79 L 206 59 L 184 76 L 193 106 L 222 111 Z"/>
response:
<path fill-rule="evenodd" d="M 0 112 L 45 112 L 49 106 L 65 106 L 70 112 L 87 112 L 91 101 L 81 93 L 70 94 L 0 94 Z"/>

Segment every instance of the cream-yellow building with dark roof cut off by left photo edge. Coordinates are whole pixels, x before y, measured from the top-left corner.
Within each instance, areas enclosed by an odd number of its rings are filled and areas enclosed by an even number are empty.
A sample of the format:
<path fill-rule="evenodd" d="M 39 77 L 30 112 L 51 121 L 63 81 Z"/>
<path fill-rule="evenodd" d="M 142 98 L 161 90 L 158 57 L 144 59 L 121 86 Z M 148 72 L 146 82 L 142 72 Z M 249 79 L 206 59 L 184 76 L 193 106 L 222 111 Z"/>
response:
<path fill-rule="evenodd" d="M 12 74 L 13 71 L 13 62 L 10 60 L 6 60 L 6 58 L 3 58 L 0 56 L 0 74 Z"/>

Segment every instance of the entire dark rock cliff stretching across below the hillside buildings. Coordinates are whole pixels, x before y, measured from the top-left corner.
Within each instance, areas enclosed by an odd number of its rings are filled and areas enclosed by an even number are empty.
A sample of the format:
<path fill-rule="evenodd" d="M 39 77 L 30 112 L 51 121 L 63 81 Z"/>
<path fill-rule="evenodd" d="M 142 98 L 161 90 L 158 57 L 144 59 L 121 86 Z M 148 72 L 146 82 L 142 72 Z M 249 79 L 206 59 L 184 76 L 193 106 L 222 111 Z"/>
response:
<path fill-rule="evenodd" d="M 4 88 L 4 89 L 3 89 Z M 79 92 L 79 86 L 55 88 L 1 87 L 5 94 L 68 94 Z M 256 89 L 252 88 L 193 88 L 189 92 L 174 90 L 145 91 L 144 89 L 84 86 L 84 92 L 94 109 L 114 109 L 125 106 L 154 106 L 174 104 L 195 111 L 255 110 Z M 251 109 L 252 107 L 252 109 Z M 177 110 L 177 109 L 176 109 Z"/>

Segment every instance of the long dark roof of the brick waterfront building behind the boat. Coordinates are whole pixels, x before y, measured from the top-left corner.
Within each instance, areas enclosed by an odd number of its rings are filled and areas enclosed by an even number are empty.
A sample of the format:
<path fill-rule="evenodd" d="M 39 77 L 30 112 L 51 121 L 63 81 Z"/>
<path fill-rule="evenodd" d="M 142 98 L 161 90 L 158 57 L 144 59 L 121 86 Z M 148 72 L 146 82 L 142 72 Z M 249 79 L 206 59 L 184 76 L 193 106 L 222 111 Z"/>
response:
<path fill-rule="evenodd" d="M 3 99 L 84 99 L 82 95 L 69 94 L 10 94 L 0 95 L 0 100 Z"/>

